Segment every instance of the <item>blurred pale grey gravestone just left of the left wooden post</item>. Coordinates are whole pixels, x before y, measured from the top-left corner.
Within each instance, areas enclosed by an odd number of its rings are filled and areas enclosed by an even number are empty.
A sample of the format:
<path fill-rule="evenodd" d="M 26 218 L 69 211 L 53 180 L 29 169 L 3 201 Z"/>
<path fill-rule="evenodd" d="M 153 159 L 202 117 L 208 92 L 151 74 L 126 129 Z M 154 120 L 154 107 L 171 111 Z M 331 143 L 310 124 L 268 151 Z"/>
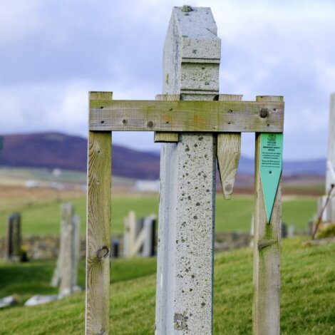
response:
<path fill-rule="evenodd" d="M 80 257 L 80 218 L 67 202 L 61 206 L 61 238 L 56 269 L 51 286 L 59 286 L 59 295 L 65 297 L 78 289 L 77 274 Z"/>

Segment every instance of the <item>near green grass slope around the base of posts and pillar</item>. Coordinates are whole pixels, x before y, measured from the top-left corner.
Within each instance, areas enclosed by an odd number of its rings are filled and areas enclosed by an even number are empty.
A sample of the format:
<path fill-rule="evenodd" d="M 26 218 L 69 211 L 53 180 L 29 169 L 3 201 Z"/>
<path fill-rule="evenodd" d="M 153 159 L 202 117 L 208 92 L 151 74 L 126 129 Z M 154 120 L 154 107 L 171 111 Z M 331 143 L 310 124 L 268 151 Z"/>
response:
<path fill-rule="evenodd" d="M 282 243 L 281 334 L 335 334 L 335 245 Z M 111 267 L 110 334 L 153 334 L 155 262 L 117 259 Z M 54 262 L 0 264 L 0 296 L 51 294 Z M 79 283 L 84 282 L 83 262 Z M 252 333 L 252 250 L 215 254 L 214 334 Z M 0 334 L 83 334 L 84 293 L 47 305 L 0 310 Z"/>

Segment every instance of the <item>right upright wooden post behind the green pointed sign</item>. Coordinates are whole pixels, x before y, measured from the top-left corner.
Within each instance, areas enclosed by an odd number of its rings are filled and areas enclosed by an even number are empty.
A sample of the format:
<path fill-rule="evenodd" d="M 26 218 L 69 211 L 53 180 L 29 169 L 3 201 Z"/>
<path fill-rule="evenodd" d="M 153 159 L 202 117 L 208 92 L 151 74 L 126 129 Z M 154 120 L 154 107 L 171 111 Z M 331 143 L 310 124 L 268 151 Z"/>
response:
<path fill-rule="evenodd" d="M 282 97 L 257 97 L 259 100 L 280 100 Z M 260 139 L 256 134 L 254 170 L 254 304 L 253 334 L 279 335 L 280 333 L 280 269 L 279 252 L 282 226 L 281 182 L 277 189 L 269 224 L 264 205 L 262 181 L 260 177 Z"/>

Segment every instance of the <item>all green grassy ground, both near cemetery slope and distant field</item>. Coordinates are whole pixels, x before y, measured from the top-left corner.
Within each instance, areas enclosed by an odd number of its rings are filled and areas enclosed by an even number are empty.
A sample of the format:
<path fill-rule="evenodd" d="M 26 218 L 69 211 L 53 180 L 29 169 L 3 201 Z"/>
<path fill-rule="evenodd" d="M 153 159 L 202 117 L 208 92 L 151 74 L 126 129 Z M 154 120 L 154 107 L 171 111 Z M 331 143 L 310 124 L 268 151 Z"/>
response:
<path fill-rule="evenodd" d="M 306 188 L 304 188 L 305 190 Z M 117 194 L 115 194 L 117 193 Z M 316 212 L 314 195 L 284 195 L 283 222 L 306 231 Z M 307 190 L 307 193 L 308 190 Z M 312 193 L 312 192 L 311 192 Z M 310 194 L 311 194 L 310 193 Z M 61 203 L 71 201 L 86 231 L 86 192 L 80 190 L 27 189 L 0 186 L 0 237 L 11 212 L 20 212 L 22 234 L 59 235 Z M 158 213 L 158 195 L 119 189 L 113 193 L 112 232 L 123 233 L 129 210 L 137 217 Z M 254 199 L 235 194 L 216 202 L 217 232 L 249 232 Z M 334 334 L 335 245 L 303 247 L 309 237 L 282 242 L 282 334 Z M 56 294 L 50 287 L 56 259 L 9 264 L 0 261 L 0 297 L 14 294 L 19 302 L 0 310 L 0 334 L 83 334 L 85 293 L 41 306 L 23 306 L 35 294 Z M 85 284 L 85 262 L 79 267 L 78 284 Z M 155 321 L 156 259 L 112 259 L 110 282 L 111 334 L 153 334 Z M 214 334 L 252 332 L 252 249 L 215 254 Z M 227 331 L 229 329 L 229 331 Z"/>

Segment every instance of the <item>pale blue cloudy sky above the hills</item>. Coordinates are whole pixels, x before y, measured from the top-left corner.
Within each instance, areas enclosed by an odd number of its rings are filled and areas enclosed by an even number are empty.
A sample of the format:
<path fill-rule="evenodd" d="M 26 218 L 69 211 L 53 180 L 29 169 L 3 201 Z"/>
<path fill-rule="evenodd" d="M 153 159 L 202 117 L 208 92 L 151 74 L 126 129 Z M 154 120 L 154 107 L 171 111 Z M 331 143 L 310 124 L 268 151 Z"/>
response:
<path fill-rule="evenodd" d="M 88 91 L 161 93 L 173 6 L 207 6 L 222 39 L 220 93 L 284 96 L 284 159 L 325 158 L 335 92 L 334 0 L 0 1 L 0 133 L 87 135 Z M 114 143 L 159 150 L 153 133 Z M 252 156 L 254 135 L 242 137 Z"/>

